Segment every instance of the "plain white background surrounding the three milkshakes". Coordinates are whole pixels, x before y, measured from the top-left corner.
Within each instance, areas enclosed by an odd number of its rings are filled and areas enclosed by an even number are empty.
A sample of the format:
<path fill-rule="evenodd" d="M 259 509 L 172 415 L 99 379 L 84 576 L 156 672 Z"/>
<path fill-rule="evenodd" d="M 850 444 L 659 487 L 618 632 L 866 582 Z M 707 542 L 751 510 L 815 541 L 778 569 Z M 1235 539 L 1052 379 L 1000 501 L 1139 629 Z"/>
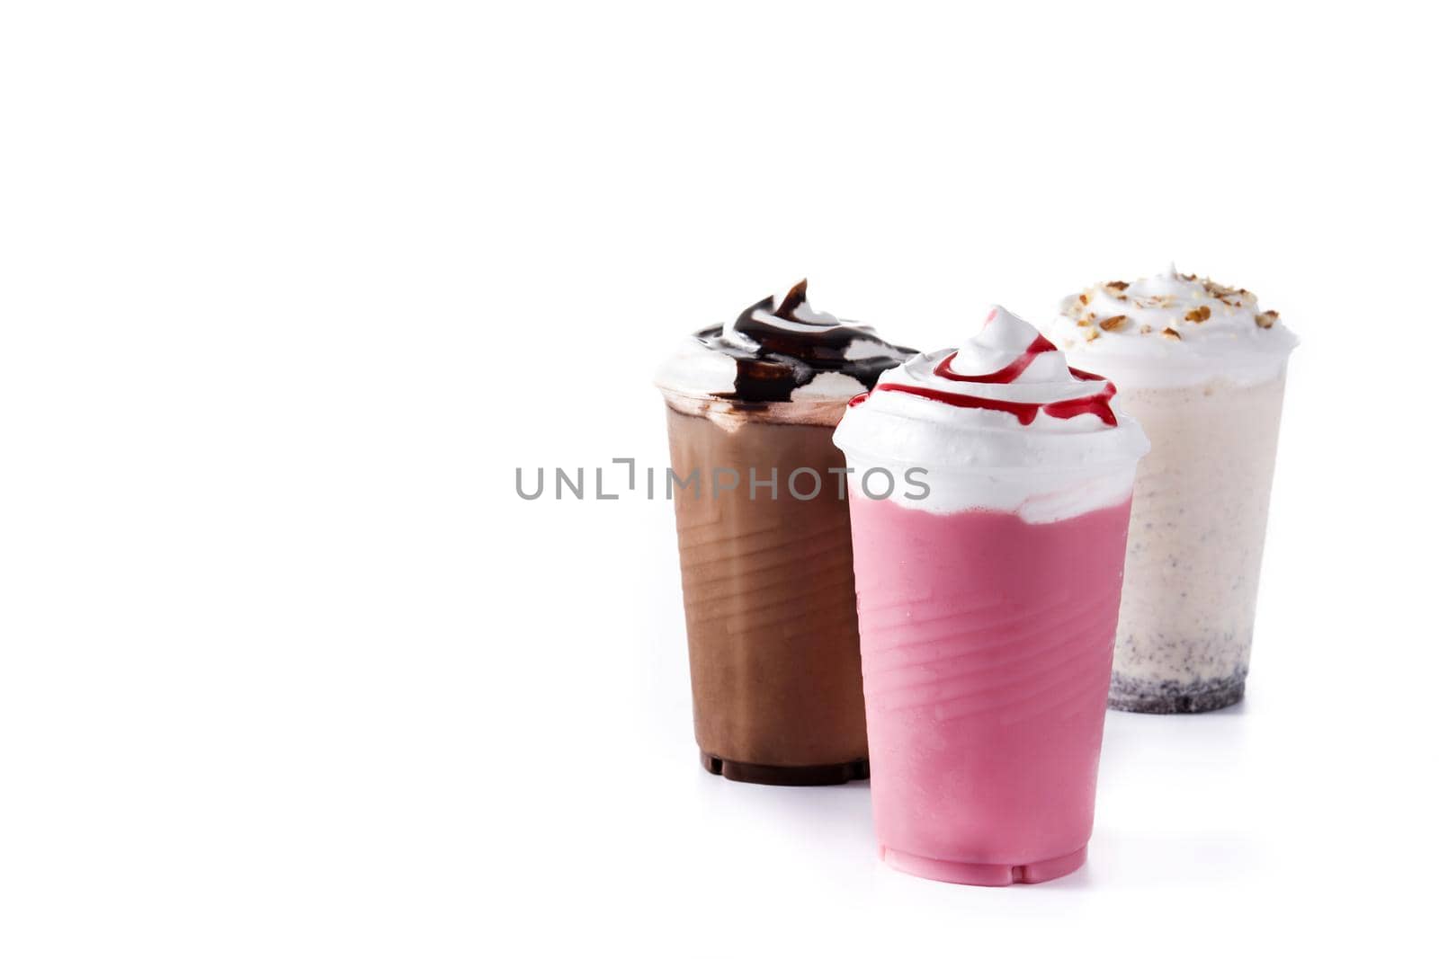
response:
<path fill-rule="evenodd" d="M 0 953 L 1377 952 L 1426 929 L 1420 4 L 13 3 Z M 1250 694 L 1111 715 L 1091 863 L 875 861 L 699 769 L 673 341 L 810 277 L 937 348 L 1170 263 L 1304 342 Z"/>

